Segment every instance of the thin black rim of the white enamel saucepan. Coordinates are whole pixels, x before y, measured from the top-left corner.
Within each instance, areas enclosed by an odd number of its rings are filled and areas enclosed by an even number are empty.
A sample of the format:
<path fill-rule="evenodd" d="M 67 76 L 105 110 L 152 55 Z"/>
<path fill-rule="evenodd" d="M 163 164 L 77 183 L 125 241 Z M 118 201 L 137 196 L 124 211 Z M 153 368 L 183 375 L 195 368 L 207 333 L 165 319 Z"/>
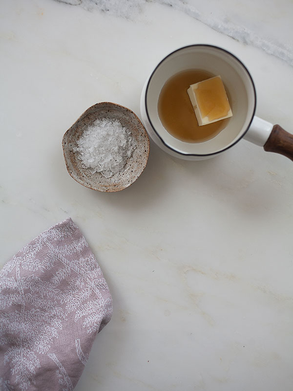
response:
<path fill-rule="evenodd" d="M 229 147 L 226 147 L 220 151 L 217 151 L 217 152 L 212 152 L 212 153 L 184 153 L 184 152 L 180 152 L 172 147 L 170 147 L 164 140 L 163 138 L 159 135 L 159 133 L 157 132 L 157 130 L 155 129 L 155 127 L 153 126 L 151 120 L 150 120 L 150 116 L 148 115 L 148 110 L 147 110 L 147 104 L 146 104 L 146 97 L 147 97 L 147 92 L 148 92 L 148 87 L 149 87 L 149 83 L 154 75 L 154 73 L 156 72 L 156 70 L 158 69 L 158 67 L 168 58 L 170 57 L 172 54 L 174 53 L 177 53 L 181 50 L 184 50 L 184 49 L 187 49 L 188 47 L 198 47 L 198 46 L 203 46 L 203 47 L 213 47 L 217 50 L 221 50 L 225 53 L 227 53 L 228 55 L 230 55 L 231 57 L 233 57 L 236 61 L 238 61 L 238 63 L 240 65 L 243 66 L 243 68 L 246 70 L 249 78 L 251 79 L 251 84 L 252 84 L 252 87 L 253 87 L 253 94 L 254 94 L 254 108 L 253 108 L 253 112 L 252 112 L 252 115 L 251 115 L 251 120 L 250 120 L 250 123 L 248 124 L 248 127 L 247 129 L 243 132 L 243 134 L 241 135 L 241 137 L 239 137 L 236 141 L 234 141 L 231 145 L 229 145 Z M 159 137 L 159 139 L 162 141 L 162 143 L 171 151 L 174 151 L 176 153 L 179 153 L 180 155 L 183 155 L 183 156 L 212 156 L 212 155 L 216 155 L 220 152 L 224 152 L 224 151 L 227 151 L 228 149 L 230 149 L 231 147 L 233 147 L 235 144 L 238 143 L 238 141 L 240 141 L 243 136 L 247 133 L 247 131 L 249 130 L 250 126 L 251 126 L 251 122 L 253 120 L 253 117 L 254 117 L 254 114 L 255 114 L 255 109 L 256 109 L 256 92 L 255 92 L 255 86 L 254 86 L 254 83 L 253 83 L 253 80 L 252 80 L 252 77 L 251 77 L 251 74 L 249 72 L 249 70 L 247 69 L 247 67 L 239 60 L 239 58 L 237 58 L 236 56 L 234 56 L 234 54 L 230 53 L 228 50 L 226 49 L 223 49 L 222 47 L 219 47 L 219 46 L 215 46 L 215 45 L 205 45 L 205 44 L 194 44 L 194 45 L 187 45 L 187 46 L 183 46 L 183 47 L 180 47 L 179 49 L 177 50 L 174 50 L 173 52 L 169 53 L 166 57 L 163 58 L 162 61 L 160 61 L 160 63 L 155 67 L 155 69 L 152 71 L 149 79 L 148 79 L 148 82 L 147 82 L 147 86 L 146 86 L 146 94 L 145 94 L 145 106 L 146 106 L 146 115 L 147 115 L 147 118 L 148 118 L 148 121 L 153 129 L 153 131 L 156 133 L 156 135 Z"/>

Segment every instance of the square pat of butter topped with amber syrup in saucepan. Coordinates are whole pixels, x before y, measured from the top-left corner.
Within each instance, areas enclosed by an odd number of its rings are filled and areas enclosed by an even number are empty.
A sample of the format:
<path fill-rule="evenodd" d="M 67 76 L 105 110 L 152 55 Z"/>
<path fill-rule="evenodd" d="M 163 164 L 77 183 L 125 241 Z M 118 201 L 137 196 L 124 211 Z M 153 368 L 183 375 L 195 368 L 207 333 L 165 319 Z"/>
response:
<path fill-rule="evenodd" d="M 187 92 L 199 126 L 233 115 L 221 76 L 192 84 Z"/>

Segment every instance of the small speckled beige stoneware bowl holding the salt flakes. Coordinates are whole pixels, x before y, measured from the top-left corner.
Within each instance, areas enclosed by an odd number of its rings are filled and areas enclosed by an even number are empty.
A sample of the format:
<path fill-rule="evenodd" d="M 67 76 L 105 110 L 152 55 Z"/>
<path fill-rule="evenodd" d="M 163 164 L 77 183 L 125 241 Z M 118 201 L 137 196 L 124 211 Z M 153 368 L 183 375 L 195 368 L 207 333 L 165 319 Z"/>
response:
<path fill-rule="evenodd" d="M 74 149 L 78 147 L 77 141 L 84 130 L 96 119 L 104 118 L 118 120 L 123 127 L 130 130 L 137 144 L 132 155 L 126 160 L 123 171 L 110 178 L 105 178 L 101 173 L 92 174 L 78 159 L 79 152 L 74 152 Z M 143 124 L 133 111 L 115 103 L 101 102 L 85 110 L 66 131 L 62 147 L 67 171 L 73 179 L 99 192 L 119 192 L 130 186 L 144 171 L 149 154 L 149 139 Z"/>

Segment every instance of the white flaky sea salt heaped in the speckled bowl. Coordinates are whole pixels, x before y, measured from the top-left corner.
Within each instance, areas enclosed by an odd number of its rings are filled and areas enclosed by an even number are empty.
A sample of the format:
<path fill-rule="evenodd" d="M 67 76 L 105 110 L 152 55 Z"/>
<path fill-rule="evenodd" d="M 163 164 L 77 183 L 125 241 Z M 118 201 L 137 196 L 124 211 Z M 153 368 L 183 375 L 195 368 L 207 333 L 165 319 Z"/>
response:
<path fill-rule="evenodd" d="M 103 118 L 84 130 L 77 145 L 73 150 L 79 152 L 83 167 L 92 174 L 101 173 L 109 178 L 122 172 L 136 148 L 136 141 L 120 121 Z"/>

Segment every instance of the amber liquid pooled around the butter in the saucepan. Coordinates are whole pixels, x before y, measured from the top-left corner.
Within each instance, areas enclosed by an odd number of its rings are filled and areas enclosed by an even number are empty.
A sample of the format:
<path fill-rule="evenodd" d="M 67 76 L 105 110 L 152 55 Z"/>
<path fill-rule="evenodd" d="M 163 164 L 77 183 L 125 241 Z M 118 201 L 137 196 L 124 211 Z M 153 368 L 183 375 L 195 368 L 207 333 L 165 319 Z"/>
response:
<path fill-rule="evenodd" d="M 159 96 L 158 113 L 162 125 L 172 136 L 188 143 L 201 143 L 226 128 L 230 118 L 199 126 L 187 93 L 191 84 L 214 76 L 204 70 L 192 69 L 167 80 Z"/>

